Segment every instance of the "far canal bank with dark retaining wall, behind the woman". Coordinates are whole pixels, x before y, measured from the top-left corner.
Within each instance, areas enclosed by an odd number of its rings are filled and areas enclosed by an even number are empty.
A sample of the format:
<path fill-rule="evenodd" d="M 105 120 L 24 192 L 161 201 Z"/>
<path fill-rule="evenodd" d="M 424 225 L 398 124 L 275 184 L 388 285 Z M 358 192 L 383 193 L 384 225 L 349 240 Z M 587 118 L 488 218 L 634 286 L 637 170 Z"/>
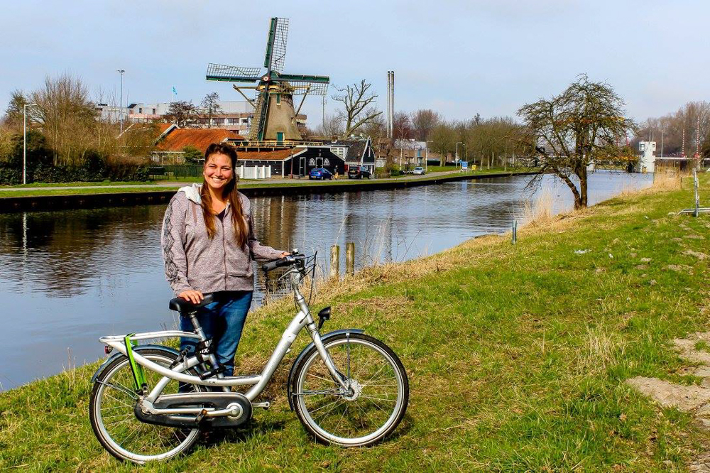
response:
<path fill-rule="evenodd" d="M 459 180 L 498 178 L 510 175 L 528 175 L 530 172 L 494 172 L 495 170 L 469 173 L 436 173 L 433 175 L 407 176 L 392 179 L 371 180 L 270 180 L 249 181 L 239 185 L 247 197 L 273 195 L 306 195 L 328 192 L 361 192 L 371 190 L 403 189 L 419 185 L 432 185 Z M 39 187 L 0 190 L 0 212 L 23 212 L 33 210 L 79 209 L 112 207 L 168 202 L 175 191 L 187 183 L 168 183 L 151 186 L 125 185 L 121 187 Z"/>

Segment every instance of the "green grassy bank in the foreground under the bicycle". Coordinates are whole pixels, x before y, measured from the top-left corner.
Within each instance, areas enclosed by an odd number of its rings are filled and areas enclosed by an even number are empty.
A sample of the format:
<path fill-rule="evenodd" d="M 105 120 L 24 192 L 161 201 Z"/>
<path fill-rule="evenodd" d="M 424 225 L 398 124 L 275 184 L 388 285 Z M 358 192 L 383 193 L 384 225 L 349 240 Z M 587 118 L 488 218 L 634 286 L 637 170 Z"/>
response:
<path fill-rule="evenodd" d="M 701 202 L 708 185 L 703 176 Z M 710 215 L 669 214 L 691 202 L 689 186 L 625 195 L 520 229 L 516 246 L 474 239 L 323 288 L 314 308 L 332 305 L 329 330 L 362 327 L 408 369 L 410 407 L 395 435 L 364 450 L 310 440 L 283 386 L 301 335 L 268 390 L 270 411 L 141 471 L 684 469 L 708 434 L 624 381 L 697 382 L 669 343 L 710 327 L 709 259 L 697 256 L 709 252 Z M 267 359 L 288 320 L 288 302 L 250 316 L 241 369 Z M 0 394 L 0 469 L 131 471 L 89 427 L 95 368 Z"/>

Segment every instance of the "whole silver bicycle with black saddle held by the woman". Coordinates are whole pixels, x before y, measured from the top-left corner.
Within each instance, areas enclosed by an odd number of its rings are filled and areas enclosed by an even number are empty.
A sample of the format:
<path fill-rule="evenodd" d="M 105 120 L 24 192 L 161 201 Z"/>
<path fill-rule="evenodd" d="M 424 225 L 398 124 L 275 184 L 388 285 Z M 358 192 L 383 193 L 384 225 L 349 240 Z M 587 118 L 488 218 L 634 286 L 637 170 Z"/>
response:
<path fill-rule="evenodd" d="M 320 335 L 331 309 L 318 313 L 316 325 L 299 286 L 315 271 L 315 255 L 295 249 L 289 256 L 266 263 L 264 271 L 288 268 L 297 313 L 284 330 L 261 374 L 224 376 L 211 340 L 197 321 L 200 304 L 181 298 L 170 309 L 189 317 L 194 332 L 166 330 L 101 337 L 109 354 L 92 376 L 89 419 L 101 445 L 119 460 L 138 464 L 168 460 L 195 445 L 200 430 L 235 428 L 251 419 L 254 408 L 268 409 L 256 398 L 271 381 L 277 366 L 306 327 L 312 342 L 293 362 L 286 384 L 288 404 L 307 433 L 318 442 L 365 447 L 385 439 L 407 410 L 409 383 L 400 359 L 383 342 L 364 330 L 344 329 Z M 138 344 L 141 340 L 189 337 L 195 352 Z M 233 386 L 251 386 L 245 393 Z M 213 391 L 221 388 L 222 391 Z"/>

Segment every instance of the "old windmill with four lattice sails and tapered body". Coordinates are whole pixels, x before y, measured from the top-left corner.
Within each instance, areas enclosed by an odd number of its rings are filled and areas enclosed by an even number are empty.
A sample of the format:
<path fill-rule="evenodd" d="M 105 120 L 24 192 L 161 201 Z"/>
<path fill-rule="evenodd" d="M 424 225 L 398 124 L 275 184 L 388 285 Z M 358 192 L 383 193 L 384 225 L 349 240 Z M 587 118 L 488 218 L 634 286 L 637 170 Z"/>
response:
<path fill-rule="evenodd" d="M 271 18 L 264 57 L 266 72 L 261 75 L 261 67 L 207 65 L 207 80 L 237 82 L 232 87 L 254 107 L 250 141 L 299 141 L 301 134 L 296 116 L 306 96 L 325 95 L 328 91 L 330 78 L 327 76 L 283 73 L 287 37 L 288 18 Z M 254 82 L 257 84 L 243 85 Z M 243 89 L 256 89 L 256 98 L 247 97 Z M 297 109 L 293 103 L 295 95 L 303 96 Z"/>

